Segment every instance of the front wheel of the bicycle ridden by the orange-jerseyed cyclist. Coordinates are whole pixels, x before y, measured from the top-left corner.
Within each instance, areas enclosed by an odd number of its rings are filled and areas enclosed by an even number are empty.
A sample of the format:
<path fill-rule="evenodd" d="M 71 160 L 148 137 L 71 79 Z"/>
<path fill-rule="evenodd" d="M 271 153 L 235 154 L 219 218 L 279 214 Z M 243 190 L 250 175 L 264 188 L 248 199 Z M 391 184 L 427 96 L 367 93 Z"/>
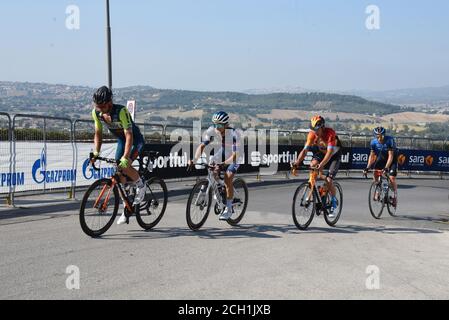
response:
<path fill-rule="evenodd" d="M 292 215 L 295 225 L 300 230 L 306 230 L 313 220 L 316 210 L 316 199 L 309 183 L 302 183 L 293 196 Z"/>

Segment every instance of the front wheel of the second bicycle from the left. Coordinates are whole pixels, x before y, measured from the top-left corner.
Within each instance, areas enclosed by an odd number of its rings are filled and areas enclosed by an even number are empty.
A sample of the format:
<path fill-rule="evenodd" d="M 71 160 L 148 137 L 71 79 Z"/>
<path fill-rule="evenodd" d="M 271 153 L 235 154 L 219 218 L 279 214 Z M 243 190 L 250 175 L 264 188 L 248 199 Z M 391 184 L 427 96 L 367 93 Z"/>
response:
<path fill-rule="evenodd" d="M 212 193 L 206 194 L 209 181 L 200 180 L 190 192 L 187 201 L 186 219 L 187 225 L 193 231 L 199 230 L 206 222 L 209 216 L 210 206 L 212 203 Z"/>

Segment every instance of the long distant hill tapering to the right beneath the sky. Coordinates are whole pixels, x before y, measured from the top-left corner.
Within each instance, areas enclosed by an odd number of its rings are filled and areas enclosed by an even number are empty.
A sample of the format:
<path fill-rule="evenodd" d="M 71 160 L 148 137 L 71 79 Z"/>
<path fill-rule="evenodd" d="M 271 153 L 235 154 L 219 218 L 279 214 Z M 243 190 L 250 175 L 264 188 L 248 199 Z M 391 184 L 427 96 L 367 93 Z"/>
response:
<path fill-rule="evenodd" d="M 0 82 L 0 111 L 40 112 L 48 115 L 89 116 L 94 88 L 44 83 Z M 200 92 L 133 86 L 114 89 L 115 101 L 136 99 L 139 111 L 200 109 L 205 114 L 224 109 L 239 115 L 270 113 L 273 109 L 351 112 L 387 115 L 400 106 L 353 95 L 320 92 L 246 94 Z"/>

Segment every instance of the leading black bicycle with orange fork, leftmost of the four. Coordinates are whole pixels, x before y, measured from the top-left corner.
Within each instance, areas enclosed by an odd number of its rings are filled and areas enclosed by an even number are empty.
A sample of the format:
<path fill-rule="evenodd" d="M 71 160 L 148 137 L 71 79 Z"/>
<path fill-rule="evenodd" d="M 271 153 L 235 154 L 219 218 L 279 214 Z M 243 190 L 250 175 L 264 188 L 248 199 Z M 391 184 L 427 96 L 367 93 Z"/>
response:
<path fill-rule="evenodd" d="M 145 197 L 139 205 L 132 205 L 136 186 L 134 183 L 120 183 L 120 172 L 117 171 L 118 161 L 98 157 L 97 161 L 103 161 L 114 166 L 115 174 L 111 178 L 103 178 L 95 181 L 84 194 L 80 207 L 81 229 L 90 237 L 99 237 L 113 224 L 119 209 L 119 198 L 124 204 L 127 223 L 135 214 L 137 222 L 144 230 L 154 228 L 165 213 L 168 200 L 167 186 L 164 180 L 158 177 L 150 177 L 153 166 L 151 160 L 157 157 L 157 152 L 143 152 L 138 158 L 139 175 L 147 186 Z M 90 154 L 93 159 L 93 154 Z M 92 163 L 94 170 L 100 170 Z M 110 208 L 110 204 L 113 205 Z M 110 209 L 110 210 L 108 210 Z M 94 222 L 90 224 L 91 220 Z"/>

